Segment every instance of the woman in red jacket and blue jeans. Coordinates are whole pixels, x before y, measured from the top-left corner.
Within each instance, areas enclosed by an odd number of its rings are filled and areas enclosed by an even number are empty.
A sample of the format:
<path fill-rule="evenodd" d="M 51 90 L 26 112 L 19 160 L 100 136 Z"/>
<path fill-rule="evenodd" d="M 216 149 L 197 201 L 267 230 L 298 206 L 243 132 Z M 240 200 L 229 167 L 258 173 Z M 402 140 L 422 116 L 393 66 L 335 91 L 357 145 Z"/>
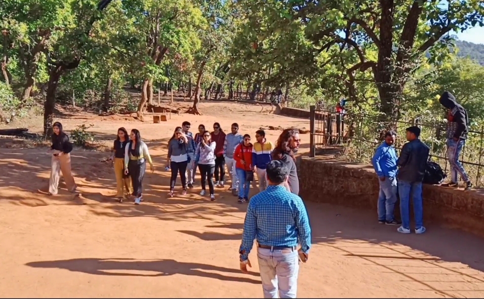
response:
<path fill-rule="evenodd" d="M 238 203 L 249 202 L 249 189 L 254 180 L 254 166 L 252 165 L 252 143 L 249 134 L 244 135 L 244 141 L 235 147 L 233 159 L 235 171 L 239 180 Z"/>

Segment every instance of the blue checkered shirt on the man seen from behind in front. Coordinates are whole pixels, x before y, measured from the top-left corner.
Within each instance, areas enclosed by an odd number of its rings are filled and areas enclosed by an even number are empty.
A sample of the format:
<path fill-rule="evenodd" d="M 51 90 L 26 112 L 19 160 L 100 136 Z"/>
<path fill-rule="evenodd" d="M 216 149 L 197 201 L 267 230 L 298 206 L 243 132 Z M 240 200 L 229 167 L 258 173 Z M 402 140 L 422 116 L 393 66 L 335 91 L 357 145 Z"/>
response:
<path fill-rule="evenodd" d="M 284 186 L 268 186 L 254 195 L 247 207 L 240 259 L 245 261 L 254 245 L 291 247 L 301 244 L 304 253 L 311 247 L 311 228 L 304 203 Z"/>

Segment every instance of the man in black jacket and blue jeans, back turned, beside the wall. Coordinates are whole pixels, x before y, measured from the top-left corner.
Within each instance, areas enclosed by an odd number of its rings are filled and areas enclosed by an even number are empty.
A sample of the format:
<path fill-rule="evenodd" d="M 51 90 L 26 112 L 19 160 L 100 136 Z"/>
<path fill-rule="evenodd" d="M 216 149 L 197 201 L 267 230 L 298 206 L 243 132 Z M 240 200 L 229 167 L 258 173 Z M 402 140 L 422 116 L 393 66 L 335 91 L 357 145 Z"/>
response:
<path fill-rule="evenodd" d="M 401 226 L 398 232 L 410 233 L 410 195 L 414 204 L 415 233 L 425 232 L 423 226 L 422 181 L 425 175 L 429 148 L 419 140 L 420 128 L 407 128 L 407 140 L 401 148 L 398 165 L 398 194 L 400 195 Z"/>

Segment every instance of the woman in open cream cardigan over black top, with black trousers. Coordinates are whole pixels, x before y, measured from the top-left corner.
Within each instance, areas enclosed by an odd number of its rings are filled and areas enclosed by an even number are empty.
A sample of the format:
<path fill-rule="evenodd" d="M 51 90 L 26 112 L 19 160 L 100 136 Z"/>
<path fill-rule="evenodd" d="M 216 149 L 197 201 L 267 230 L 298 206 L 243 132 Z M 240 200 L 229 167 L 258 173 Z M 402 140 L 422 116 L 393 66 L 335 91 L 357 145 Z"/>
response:
<path fill-rule="evenodd" d="M 148 160 L 151 172 L 154 171 L 153 162 L 148 152 L 148 145 L 141 141 L 140 131 L 131 130 L 130 143 L 125 149 L 125 174 L 130 174 L 133 184 L 133 196 L 135 204 L 139 205 L 143 200 L 142 182 L 146 171 L 146 160 Z"/>

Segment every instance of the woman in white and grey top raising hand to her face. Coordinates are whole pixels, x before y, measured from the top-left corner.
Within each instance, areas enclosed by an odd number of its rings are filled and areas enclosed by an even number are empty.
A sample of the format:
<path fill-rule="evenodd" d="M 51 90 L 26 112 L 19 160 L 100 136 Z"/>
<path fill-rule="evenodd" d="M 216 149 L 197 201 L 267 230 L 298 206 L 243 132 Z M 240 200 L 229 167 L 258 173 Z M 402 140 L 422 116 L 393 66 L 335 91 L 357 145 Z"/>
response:
<path fill-rule="evenodd" d="M 211 140 L 211 134 L 209 131 L 205 131 L 202 135 L 200 143 L 196 147 L 195 151 L 195 163 L 198 165 L 198 170 L 200 171 L 200 181 L 201 181 L 201 196 L 205 196 L 206 180 L 209 182 L 210 189 L 210 200 L 215 201 L 214 194 L 214 172 L 215 172 L 215 141 Z"/>

